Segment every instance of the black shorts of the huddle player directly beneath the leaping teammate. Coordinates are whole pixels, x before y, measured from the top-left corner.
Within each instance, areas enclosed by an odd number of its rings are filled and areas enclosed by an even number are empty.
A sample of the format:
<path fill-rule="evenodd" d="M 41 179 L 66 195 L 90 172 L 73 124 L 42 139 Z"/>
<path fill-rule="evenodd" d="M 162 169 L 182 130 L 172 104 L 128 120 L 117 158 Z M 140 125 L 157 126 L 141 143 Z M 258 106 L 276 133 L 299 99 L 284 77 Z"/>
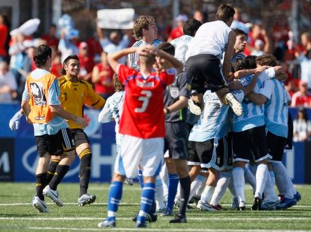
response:
<path fill-rule="evenodd" d="M 224 160 L 223 139 L 211 139 L 206 142 L 188 142 L 188 165 L 200 165 L 202 168 L 220 170 Z"/>

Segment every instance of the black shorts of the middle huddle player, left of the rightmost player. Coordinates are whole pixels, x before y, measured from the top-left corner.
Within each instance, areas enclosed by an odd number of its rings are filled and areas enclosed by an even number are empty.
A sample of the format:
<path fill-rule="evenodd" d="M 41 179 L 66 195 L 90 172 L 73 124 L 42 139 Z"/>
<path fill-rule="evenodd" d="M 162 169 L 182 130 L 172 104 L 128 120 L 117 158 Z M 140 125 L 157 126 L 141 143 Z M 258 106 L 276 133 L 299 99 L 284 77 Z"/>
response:
<path fill-rule="evenodd" d="M 232 158 L 234 161 L 249 162 L 254 158 L 255 162 L 259 162 L 270 157 L 267 149 L 265 125 L 247 131 L 234 132 L 232 142 L 234 151 Z"/>

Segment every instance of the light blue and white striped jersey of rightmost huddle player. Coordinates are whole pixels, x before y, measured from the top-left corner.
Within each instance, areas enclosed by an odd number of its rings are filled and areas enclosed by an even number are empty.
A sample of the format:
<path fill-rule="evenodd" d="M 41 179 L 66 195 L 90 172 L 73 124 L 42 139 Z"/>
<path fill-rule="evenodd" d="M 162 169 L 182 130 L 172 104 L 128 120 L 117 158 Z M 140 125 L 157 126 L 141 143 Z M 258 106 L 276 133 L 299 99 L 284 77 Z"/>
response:
<path fill-rule="evenodd" d="M 281 81 L 270 79 L 264 82 L 267 91 L 258 93 L 265 95 L 265 128 L 274 135 L 288 137 L 288 101 L 290 95 Z"/>

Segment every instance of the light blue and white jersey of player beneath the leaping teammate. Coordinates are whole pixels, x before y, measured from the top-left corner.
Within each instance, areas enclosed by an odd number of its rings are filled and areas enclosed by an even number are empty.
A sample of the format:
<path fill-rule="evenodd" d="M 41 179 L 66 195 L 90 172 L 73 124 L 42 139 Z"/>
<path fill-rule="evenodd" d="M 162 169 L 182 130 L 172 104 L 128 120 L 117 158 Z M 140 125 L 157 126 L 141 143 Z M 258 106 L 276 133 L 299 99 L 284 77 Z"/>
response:
<path fill-rule="evenodd" d="M 207 90 L 203 96 L 204 110 L 200 119 L 191 129 L 189 141 L 205 142 L 213 138 L 221 139 L 227 133 L 229 106 L 223 105 L 216 93 Z"/>

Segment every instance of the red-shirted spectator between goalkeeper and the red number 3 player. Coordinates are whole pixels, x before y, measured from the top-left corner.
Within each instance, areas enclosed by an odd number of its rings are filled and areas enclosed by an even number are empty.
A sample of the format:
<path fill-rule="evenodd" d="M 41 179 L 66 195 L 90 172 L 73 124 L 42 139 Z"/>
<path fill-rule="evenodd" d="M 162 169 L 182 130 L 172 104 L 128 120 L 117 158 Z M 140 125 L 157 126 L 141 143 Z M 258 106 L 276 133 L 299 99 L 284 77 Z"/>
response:
<path fill-rule="evenodd" d="M 114 93 L 113 88 L 113 69 L 109 66 L 107 52 L 102 52 L 101 63 L 93 68 L 92 83 L 95 92 L 107 99 Z"/>

